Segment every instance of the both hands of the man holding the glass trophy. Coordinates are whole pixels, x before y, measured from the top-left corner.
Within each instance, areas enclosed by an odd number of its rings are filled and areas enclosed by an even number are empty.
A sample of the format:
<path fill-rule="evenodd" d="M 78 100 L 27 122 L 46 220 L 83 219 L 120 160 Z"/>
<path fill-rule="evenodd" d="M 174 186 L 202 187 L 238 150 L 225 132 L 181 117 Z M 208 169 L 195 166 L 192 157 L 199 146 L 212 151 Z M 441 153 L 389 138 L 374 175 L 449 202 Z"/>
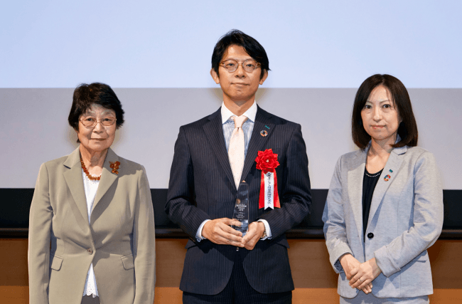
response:
<path fill-rule="evenodd" d="M 264 224 L 261 221 L 254 221 L 249 224 L 249 230 L 244 237 L 242 233 L 231 228 L 231 225 L 240 226 L 236 219 L 213 219 L 205 223 L 202 229 L 202 236 L 205 239 L 217 244 L 244 247 L 252 250 L 257 241 L 264 233 Z"/>

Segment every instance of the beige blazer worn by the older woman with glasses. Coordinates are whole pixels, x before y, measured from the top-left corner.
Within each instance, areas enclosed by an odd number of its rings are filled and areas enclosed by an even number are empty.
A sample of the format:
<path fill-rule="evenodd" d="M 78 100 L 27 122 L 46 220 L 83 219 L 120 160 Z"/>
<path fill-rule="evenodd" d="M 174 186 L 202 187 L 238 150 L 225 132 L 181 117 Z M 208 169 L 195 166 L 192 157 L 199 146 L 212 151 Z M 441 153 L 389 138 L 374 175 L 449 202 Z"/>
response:
<path fill-rule="evenodd" d="M 119 174 L 109 167 L 117 161 Z M 93 263 L 101 303 L 152 304 L 154 210 L 144 167 L 109 149 L 88 224 L 78 148 L 45 162 L 28 244 L 30 303 L 80 304 Z"/>

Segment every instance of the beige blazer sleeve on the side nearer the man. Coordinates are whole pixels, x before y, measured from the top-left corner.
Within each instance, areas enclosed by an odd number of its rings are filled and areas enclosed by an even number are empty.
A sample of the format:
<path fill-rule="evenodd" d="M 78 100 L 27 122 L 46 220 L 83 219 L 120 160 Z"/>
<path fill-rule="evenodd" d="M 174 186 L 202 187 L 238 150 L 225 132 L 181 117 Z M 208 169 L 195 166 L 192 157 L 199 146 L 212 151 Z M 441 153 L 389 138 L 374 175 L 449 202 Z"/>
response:
<path fill-rule="evenodd" d="M 151 189 L 144 167 L 138 181 L 138 199 L 134 215 L 133 256 L 135 265 L 134 304 L 153 303 L 156 283 L 156 231 Z"/>

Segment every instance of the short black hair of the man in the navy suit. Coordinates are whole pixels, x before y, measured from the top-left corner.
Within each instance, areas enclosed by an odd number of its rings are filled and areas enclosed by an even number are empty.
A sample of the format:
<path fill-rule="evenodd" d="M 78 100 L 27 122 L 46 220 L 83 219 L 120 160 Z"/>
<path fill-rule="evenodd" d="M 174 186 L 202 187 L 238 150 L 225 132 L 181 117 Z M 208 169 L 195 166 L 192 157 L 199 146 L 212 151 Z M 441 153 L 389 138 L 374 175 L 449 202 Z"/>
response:
<path fill-rule="evenodd" d="M 233 45 L 242 46 L 250 57 L 260 63 L 262 69 L 260 79 L 262 79 L 265 71 L 269 71 L 267 52 L 264 51 L 263 46 L 258 41 L 239 30 L 231 30 L 227 32 L 220 38 L 217 44 L 215 44 L 215 48 L 213 48 L 212 68 L 215 70 L 217 75 L 220 75 L 218 73 L 218 68 L 220 67 L 220 63 L 227 51 L 227 48 Z"/>

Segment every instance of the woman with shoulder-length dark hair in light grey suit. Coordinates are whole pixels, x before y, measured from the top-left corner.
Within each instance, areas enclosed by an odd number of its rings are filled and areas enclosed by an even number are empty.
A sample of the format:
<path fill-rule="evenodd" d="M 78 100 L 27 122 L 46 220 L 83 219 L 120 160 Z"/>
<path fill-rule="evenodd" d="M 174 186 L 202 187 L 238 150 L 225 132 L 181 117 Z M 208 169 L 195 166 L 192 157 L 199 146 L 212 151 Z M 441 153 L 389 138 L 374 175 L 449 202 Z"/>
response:
<path fill-rule="evenodd" d="M 441 233 L 443 191 L 401 81 L 362 83 L 352 131 L 360 150 L 338 159 L 323 212 L 340 303 L 429 303 L 426 249 Z"/>

